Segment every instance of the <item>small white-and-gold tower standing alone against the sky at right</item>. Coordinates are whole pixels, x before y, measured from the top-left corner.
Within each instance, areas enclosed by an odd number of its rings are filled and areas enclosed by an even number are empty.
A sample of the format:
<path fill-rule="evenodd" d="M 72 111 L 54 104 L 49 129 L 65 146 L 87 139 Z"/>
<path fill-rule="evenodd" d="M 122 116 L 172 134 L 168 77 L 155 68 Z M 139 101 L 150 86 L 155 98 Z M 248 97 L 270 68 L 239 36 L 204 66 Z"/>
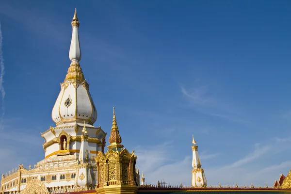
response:
<path fill-rule="evenodd" d="M 204 170 L 201 168 L 201 162 L 198 154 L 198 146 L 196 146 L 196 141 L 194 140 L 194 136 L 192 136 L 192 152 L 193 152 L 193 159 L 192 159 L 192 187 L 206 187 L 207 180 L 204 175 Z"/>

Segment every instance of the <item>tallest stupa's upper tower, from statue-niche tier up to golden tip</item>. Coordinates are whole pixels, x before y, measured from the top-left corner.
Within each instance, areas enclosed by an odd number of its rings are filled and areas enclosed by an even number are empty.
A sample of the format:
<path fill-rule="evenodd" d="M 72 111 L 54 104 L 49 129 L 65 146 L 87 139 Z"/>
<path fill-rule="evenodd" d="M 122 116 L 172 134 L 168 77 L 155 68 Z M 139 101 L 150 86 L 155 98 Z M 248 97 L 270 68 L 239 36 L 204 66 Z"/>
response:
<path fill-rule="evenodd" d="M 72 39 L 69 51 L 71 60 L 65 81 L 61 83 L 61 91 L 51 112 L 51 118 L 56 127 L 50 127 L 42 137 L 46 140 L 43 147 L 45 157 L 60 155 L 77 155 L 81 149 L 81 129 L 85 123 L 88 131 L 88 152 L 89 155 L 102 151 L 104 144 L 102 139 L 106 133 L 100 128 L 93 126 L 97 120 L 97 110 L 89 92 L 89 84 L 84 79 L 80 66 L 81 48 L 78 29 L 80 26 L 77 12 L 72 24 Z M 75 160 L 76 160 L 75 159 Z"/>

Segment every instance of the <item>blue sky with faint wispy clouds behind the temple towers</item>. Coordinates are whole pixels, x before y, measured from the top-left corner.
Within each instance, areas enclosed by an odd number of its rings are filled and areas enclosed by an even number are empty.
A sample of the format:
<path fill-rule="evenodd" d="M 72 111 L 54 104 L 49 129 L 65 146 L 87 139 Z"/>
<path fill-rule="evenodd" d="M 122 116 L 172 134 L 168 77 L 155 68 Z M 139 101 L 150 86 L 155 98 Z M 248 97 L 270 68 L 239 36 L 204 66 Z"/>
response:
<path fill-rule="evenodd" d="M 55 126 L 76 6 L 95 126 L 110 132 L 115 106 L 147 183 L 190 184 L 192 134 L 209 185 L 287 175 L 289 0 L 0 1 L 0 172 L 44 158 L 40 132 Z"/>

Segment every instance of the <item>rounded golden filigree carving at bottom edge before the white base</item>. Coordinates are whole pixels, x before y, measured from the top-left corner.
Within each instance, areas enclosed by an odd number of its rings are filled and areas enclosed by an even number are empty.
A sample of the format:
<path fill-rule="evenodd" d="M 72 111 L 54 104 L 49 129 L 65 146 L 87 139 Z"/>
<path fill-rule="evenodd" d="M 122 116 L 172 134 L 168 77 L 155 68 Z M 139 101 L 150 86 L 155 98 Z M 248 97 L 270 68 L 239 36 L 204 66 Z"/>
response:
<path fill-rule="evenodd" d="M 44 183 L 34 178 L 27 183 L 21 194 L 49 194 L 49 191 Z"/>

